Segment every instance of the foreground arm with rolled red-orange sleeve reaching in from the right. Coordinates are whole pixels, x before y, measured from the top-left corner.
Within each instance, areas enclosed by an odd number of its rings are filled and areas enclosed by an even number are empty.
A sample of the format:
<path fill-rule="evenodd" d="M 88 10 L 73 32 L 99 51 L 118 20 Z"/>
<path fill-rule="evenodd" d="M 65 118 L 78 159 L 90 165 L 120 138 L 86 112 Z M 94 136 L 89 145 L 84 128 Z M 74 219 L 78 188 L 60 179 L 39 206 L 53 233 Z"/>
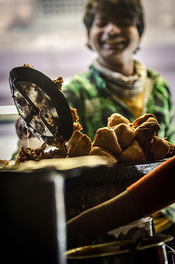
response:
<path fill-rule="evenodd" d="M 67 222 L 68 248 L 91 244 L 98 236 L 175 202 L 175 156 L 126 191 Z M 155 184 L 156 183 L 156 184 Z"/>

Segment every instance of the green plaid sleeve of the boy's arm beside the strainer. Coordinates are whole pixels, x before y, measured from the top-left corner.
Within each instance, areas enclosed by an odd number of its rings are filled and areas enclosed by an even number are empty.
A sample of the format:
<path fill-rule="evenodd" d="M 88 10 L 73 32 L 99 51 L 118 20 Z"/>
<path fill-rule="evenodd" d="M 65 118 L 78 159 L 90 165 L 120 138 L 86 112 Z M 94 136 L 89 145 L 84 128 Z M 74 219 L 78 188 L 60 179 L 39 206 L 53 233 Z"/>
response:
<path fill-rule="evenodd" d="M 90 73 L 82 73 L 64 81 L 62 92 L 70 107 L 77 109 L 83 134 L 93 140 L 98 128 L 103 127 L 101 105 L 96 86 L 89 80 Z"/>

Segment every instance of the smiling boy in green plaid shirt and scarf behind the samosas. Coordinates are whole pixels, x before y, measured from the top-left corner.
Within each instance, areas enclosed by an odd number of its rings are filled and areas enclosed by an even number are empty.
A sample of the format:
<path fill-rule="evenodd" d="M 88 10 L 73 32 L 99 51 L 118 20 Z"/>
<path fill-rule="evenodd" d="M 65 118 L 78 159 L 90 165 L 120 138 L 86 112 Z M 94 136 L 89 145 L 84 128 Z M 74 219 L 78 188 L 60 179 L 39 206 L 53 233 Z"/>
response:
<path fill-rule="evenodd" d="M 107 117 L 133 122 L 145 113 L 160 124 L 159 137 L 175 144 L 173 102 L 166 81 L 134 58 L 144 30 L 139 0 L 88 0 L 84 13 L 90 49 L 97 58 L 89 72 L 64 80 L 63 94 L 77 109 L 82 133 L 91 140 Z"/>

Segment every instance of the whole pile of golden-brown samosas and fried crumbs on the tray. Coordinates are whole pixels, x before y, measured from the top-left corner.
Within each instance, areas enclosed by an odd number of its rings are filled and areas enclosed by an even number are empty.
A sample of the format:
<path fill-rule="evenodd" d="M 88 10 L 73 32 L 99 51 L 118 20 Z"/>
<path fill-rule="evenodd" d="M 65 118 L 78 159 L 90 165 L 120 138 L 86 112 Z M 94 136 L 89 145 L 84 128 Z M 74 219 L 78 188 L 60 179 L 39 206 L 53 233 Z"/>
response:
<path fill-rule="evenodd" d="M 113 163 L 136 163 L 157 161 L 175 155 L 175 145 L 168 138 L 159 138 L 160 126 L 153 114 L 144 114 L 133 123 L 120 114 L 108 117 L 107 127 L 97 130 L 94 141 L 80 132 L 76 109 L 70 107 L 73 119 L 73 134 L 68 142 L 58 143 L 58 148 L 44 152 L 41 148 L 31 151 L 21 148 L 17 162 L 50 158 L 72 158 L 86 155 L 107 156 Z"/>

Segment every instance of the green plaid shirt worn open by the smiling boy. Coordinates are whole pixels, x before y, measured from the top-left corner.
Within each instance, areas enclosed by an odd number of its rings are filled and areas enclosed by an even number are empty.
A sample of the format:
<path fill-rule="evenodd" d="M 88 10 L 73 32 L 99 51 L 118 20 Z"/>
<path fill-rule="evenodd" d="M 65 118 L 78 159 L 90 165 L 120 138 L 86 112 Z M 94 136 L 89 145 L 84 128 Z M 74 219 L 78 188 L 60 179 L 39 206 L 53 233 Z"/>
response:
<path fill-rule="evenodd" d="M 116 100 L 106 88 L 100 73 L 89 67 L 87 73 L 77 74 L 64 80 L 63 94 L 69 106 L 77 109 L 83 134 L 93 141 L 96 131 L 107 126 L 107 118 L 113 113 L 125 116 L 131 123 L 136 119 L 133 112 L 121 100 Z M 153 81 L 153 89 L 146 104 L 146 113 L 157 117 L 161 130 L 159 137 L 168 137 L 175 144 L 173 125 L 173 101 L 166 81 L 153 70 L 147 69 L 148 78 Z"/>

